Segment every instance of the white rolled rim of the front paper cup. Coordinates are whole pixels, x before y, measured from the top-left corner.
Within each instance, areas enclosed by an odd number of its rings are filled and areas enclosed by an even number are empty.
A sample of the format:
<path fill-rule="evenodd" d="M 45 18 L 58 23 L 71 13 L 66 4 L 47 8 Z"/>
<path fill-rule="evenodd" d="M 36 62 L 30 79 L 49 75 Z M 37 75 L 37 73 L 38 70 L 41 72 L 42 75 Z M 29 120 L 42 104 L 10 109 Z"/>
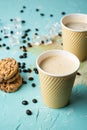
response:
<path fill-rule="evenodd" d="M 68 73 L 68 74 L 61 74 L 61 75 L 59 75 L 59 74 L 51 74 L 51 73 L 48 73 L 48 72 L 44 71 L 44 70 L 39 66 L 39 64 L 38 64 L 39 59 L 40 59 L 43 55 L 45 55 L 45 54 L 47 54 L 47 53 L 55 53 L 55 52 L 57 52 L 57 53 L 58 53 L 58 52 L 59 52 L 59 53 L 66 53 L 66 54 L 68 54 L 69 56 L 72 56 L 73 59 L 75 59 L 75 61 L 76 61 L 77 64 L 78 64 L 77 67 L 76 67 L 76 69 L 75 69 L 74 71 Z M 68 51 L 66 51 L 66 50 L 56 50 L 56 49 L 54 49 L 54 50 L 47 50 L 47 51 L 41 53 L 41 54 L 37 57 L 37 59 L 36 59 L 36 66 L 37 66 L 38 70 L 40 70 L 41 72 L 43 72 L 44 74 L 46 74 L 46 75 L 48 75 L 48 76 L 53 76 L 53 77 L 66 77 L 66 76 L 70 76 L 70 75 L 72 75 L 72 74 L 74 74 L 75 72 L 78 71 L 78 69 L 79 69 L 79 67 L 80 67 L 80 61 L 79 61 L 78 57 L 75 56 L 75 55 L 74 55 L 73 53 L 71 53 L 71 52 L 68 52 Z"/>

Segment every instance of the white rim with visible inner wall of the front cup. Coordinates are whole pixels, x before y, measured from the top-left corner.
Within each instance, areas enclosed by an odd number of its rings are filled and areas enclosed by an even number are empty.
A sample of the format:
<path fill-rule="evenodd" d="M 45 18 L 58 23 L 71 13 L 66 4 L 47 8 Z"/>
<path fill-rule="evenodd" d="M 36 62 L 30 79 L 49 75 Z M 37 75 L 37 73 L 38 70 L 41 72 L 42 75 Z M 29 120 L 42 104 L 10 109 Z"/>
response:
<path fill-rule="evenodd" d="M 48 56 L 52 56 L 55 55 L 55 54 L 62 54 L 62 55 L 67 55 L 70 59 L 72 59 L 74 61 L 74 63 L 76 64 L 76 68 L 74 71 L 72 71 L 71 73 L 68 73 L 68 74 L 51 74 L 51 73 L 48 73 L 46 71 L 44 71 L 40 66 L 39 64 L 41 63 L 41 61 L 43 61 L 43 59 L 47 58 Z M 49 75 L 49 76 L 53 76 L 53 77 L 66 77 L 66 76 L 69 76 L 69 75 L 72 75 L 74 74 L 75 72 L 78 71 L 79 67 L 80 67 L 80 61 L 79 59 L 74 55 L 72 54 L 71 52 L 68 52 L 68 51 L 65 51 L 65 50 L 48 50 L 48 51 L 45 51 L 43 53 L 41 53 L 38 58 L 36 59 L 36 65 L 37 65 L 37 68 L 44 74 L 46 75 Z"/>

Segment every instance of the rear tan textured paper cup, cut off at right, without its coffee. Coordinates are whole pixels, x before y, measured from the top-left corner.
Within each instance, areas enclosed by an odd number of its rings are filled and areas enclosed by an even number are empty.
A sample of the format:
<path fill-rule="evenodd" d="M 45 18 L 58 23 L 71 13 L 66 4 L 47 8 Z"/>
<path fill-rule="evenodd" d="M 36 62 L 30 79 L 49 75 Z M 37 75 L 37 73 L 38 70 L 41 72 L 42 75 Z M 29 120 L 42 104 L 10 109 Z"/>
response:
<path fill-rule="evenodd" d="M 61 19 L 63 49 L 74 53 L 80 61 L 87 57 L 87 30 L 66 27 L 67 23 L 87 23 L 86 14 L 70 14 Z"/>

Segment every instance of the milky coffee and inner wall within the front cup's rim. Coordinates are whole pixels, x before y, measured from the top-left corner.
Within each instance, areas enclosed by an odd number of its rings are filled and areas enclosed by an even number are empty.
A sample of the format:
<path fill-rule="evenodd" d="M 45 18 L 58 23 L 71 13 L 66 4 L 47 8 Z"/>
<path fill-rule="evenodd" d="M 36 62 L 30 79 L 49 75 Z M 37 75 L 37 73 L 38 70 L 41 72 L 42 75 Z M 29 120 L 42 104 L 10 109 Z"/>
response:
<path fill-rule="evenodd" d="M 73 73 L 77 68 L 73 56 L 69 57 L 68 54 L 62 53 L 48 55 L 39 63 L 39 66 L 47 73 L 61 76 Z"/>

